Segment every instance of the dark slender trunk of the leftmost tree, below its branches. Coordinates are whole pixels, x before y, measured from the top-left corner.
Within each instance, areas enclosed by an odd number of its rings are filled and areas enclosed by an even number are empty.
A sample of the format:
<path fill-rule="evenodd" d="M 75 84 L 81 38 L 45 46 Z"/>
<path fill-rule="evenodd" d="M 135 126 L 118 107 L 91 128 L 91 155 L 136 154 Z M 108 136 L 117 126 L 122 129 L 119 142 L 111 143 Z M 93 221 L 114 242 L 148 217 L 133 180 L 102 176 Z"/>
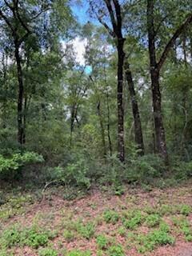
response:
<path fill-rule="evenodd" d="M 24 135 L 24 123 L 23 123 L 23 94 L 24 94 L 24 86 L 23 86 L 23 77 L 22 77 L 22 65 L 21 58 L 19 56 L 19 46 L 18 43 L 15 42 L 15 59 L 17 62 L 18 69 L 18 143 L 20 145 L 24 144 L 23 135 Z"/>

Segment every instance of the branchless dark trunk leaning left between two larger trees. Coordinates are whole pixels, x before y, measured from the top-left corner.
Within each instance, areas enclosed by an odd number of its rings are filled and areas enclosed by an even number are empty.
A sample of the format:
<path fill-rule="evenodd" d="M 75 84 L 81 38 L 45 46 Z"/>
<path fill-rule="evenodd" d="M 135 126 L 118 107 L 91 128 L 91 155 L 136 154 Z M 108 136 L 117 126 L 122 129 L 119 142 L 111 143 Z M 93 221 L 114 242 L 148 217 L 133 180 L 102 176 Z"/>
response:
<path fill-rule="evenodd" d="M 132 78 L 132 74 L 130 71 L 130 64 L 129 62 L 125 62 L 125 73 L 126 73 L 126 81 L 129 87 L 130 91 L 130 99 L 131 99 L 131 106 L 132 106 L 132 112 L 134 116 L 134 137 L 135 137 L 135 143 L 138 146 L 139 155 L 144 154 L 144 143 L 142 138 L 142 122 L 140 119 L 140 114 L 138 110 L 138 101 L 136 98 L 136 93 L 134 90 L 134 81 Z"/>

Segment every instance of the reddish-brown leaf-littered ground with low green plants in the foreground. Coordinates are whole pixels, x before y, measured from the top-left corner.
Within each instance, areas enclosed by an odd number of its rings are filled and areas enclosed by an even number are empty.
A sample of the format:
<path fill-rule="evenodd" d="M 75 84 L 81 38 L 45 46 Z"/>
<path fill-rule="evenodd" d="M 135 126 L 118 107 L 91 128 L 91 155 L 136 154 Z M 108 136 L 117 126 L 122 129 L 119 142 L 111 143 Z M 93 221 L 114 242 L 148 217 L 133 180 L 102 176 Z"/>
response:
<path fill-rule="evenodd" d="M 12 191 L 0 206 L 0 256 L 192 256 L 191 185 L 71 201 Z"/>

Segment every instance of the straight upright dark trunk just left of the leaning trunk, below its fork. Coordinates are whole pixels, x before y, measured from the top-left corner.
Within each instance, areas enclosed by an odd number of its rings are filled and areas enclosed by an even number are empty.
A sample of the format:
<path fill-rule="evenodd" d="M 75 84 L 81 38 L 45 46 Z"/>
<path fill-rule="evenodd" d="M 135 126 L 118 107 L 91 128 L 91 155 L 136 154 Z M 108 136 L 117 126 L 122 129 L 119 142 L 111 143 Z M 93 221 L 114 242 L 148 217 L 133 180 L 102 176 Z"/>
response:
<path fill-rule="evenodd" d="M 124 110 L 123 110 L 123 64 L 125 53 L 123 51 L 124 38 L 118 38 L 118 158 L 125 161 L 124 145 Z"/>

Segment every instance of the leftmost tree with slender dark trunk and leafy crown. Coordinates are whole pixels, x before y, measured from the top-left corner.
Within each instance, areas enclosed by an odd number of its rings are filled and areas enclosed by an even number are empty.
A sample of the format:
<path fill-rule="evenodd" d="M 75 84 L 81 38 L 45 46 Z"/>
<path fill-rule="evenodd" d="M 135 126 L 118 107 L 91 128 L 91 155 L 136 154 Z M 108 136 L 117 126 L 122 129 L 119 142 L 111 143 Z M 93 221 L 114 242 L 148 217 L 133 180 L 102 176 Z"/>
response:
<path fill-rule="evenodd" d="M 60 6 L 58 6 L 59 4 Z M 54 26 L 52 24 L 48 24 L 50 29 L 47 29 L 46 27 L 46 20 L 48 17 L 50 17 L 50 20 L 53 21 L 53 24 L 55 24 L 55 21 L 57 20 L 57 31 L 59 31 L 58 17 L 61 17 L 63 14 L 63 12 L 61 12 L 61 5 L 62 2 L 58 3 L 58 1 L 34 1 L 31 3 L 28 1 L 20 2 L 18 0 L 5 0 L 0 2 L 0 20 L 2 23 L 2 30 L 4 30 L 10 42 L 12 42 L 14 46 L 14 59 L 17 65 L 18 143 L 21 146 L 26 142 L 26 117 L 24 114 L 26 104 L 24 102 L 25 86 L 22 67 L 23 52 L 25 50 L 25 45 L 30 42 L 30 39 L 35 40 L 35 36 L 37 36 L 38 40 L 40 41 L 40 38 L 42 38 L 43 34 L 42 33 L 41 36 L 39 34 L 42 32 L 42 25 L 43 29 L 46 28 L 46 32 L 50 32 L 50 30 L 53 31 Z M 55 15 L 55 13 L 57 14 Z M 57 19 L 55 17 L 57 17 Z M 55 30 L 55 35 L 58 34 L 57 31 Z M 46 41 L 45 38 L 43 41 Z"/>

